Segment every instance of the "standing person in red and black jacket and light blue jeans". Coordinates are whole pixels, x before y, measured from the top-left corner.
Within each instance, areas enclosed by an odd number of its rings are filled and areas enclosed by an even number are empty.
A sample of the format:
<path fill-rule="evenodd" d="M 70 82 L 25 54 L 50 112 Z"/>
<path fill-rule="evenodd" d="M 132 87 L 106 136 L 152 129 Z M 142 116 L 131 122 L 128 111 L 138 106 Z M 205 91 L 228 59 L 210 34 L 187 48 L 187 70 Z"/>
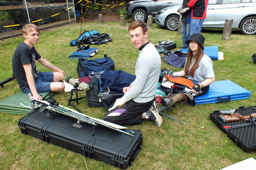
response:
<path fill-rule="evenodd" d="M 206 18 L 208 0 L 190 0 L 187 6 L 192 9 L 190 21 L 190 35 L 200 33 Z"/>

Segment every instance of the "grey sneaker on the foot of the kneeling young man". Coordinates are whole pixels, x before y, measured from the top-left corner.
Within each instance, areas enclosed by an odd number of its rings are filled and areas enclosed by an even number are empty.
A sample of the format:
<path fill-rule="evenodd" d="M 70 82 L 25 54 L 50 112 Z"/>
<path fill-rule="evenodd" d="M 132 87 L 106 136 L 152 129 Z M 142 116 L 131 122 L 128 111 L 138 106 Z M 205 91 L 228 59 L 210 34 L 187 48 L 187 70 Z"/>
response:
<path fill-rule="evenodd" d="M 154 101 L 150 109 L 146 111 L 149 120 L 153 120 L 157 127 L 160 127 L 162 124 L 162 117 L 159 115 L 157 101 Z"/>

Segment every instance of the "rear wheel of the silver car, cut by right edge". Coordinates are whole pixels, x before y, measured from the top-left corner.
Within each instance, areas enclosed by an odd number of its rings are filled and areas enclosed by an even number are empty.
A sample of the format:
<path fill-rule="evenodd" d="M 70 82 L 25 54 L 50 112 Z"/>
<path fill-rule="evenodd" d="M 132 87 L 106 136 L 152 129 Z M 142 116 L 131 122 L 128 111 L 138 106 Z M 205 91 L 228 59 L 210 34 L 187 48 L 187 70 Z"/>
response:
<path fill-rule="evenodd" d="M 256 17 L 250 16 L 245 18 L 240 25 L 240 31 L 244 35 L 255 35 L 256 34 Z"/>

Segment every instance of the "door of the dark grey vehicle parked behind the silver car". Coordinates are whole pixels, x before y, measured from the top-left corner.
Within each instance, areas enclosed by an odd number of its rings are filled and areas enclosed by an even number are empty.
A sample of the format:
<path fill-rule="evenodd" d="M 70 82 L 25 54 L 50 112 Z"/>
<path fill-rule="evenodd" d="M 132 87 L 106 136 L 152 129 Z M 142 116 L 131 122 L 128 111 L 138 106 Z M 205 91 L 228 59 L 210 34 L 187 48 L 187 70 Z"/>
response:
<path fill-rule="evenodd" d="M 157 12 L 163 8 L 173 6 L 174 0 L 151 0 L 150 15 L 157 15 Z M 181 2 L 182 3 L 182 2 Z"/>

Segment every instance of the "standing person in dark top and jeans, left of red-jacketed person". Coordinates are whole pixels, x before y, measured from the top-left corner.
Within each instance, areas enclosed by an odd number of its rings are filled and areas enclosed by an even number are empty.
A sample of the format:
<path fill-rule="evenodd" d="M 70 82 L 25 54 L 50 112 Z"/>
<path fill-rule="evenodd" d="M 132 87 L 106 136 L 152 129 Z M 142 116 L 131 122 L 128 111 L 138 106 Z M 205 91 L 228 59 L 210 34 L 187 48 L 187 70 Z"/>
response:
<path fill-rule="evenodd" d="M 182 27 L 181 27 L 181 36 L 182 36 L 182 41 L 183 41 L 183 46 L 178 47 L 178 48 L 188 48 L 188 45 L 186 43 L 187 40 L 190 39 L 190 20 L 191 20 L 191 9 L 188 9 L 185 13 L 181 13 L 180 11 L 184 8 L 187 8 L 187 4 L 189 3 L 189 0 L 183 0 L 183 3 L 178 9 L 178 13 L 180 13 L 181 21 L 182 21 Z"/>

